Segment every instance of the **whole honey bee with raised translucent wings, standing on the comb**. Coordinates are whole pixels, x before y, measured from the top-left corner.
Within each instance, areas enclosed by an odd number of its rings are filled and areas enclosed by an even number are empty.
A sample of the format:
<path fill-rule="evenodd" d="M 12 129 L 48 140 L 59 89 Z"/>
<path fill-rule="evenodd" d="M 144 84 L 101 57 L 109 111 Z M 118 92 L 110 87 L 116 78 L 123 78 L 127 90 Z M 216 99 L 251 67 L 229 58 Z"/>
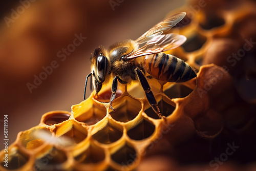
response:
<path fill-rule="evenodd" d="M 110 46 L 95 49 L 90 58 L 91 73 L 86 77 L 84 86 L 84 100 L 86 99 L 87 81 L 94 77 L 93 85 L 96 93 L 101 90 L 102 84 L 112 81 L 110 108 L 115 111 L 112 102 L 116 97 L 118 82 L 127 84 L 131 81 L 140 81 L 146 98 L 155 113 L 161 116 L 156 99 L 147 82 L 145 74 L 164 82 L 185 82 L 194 77 L 194 70 L 173 55 L 162 53 L 181 46 L 186 37 L 180 34 L 165 34 L 186 15 L 181 12 L 170 16 L 141 35 L 137 40 L 124 40 Z M 142 46 L 140 46 L 142 45 Z"/>

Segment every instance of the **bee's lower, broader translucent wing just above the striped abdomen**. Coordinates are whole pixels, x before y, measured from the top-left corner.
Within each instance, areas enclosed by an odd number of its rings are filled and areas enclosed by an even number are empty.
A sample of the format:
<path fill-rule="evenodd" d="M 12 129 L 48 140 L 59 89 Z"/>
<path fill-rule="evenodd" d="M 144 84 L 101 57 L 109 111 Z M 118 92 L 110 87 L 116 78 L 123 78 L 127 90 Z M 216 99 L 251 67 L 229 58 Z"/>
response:
<path fill-rule="evenodd" d="M 181 46 L 185 41 L 186 37 L 180 34 L 170 33 L 158 35 L 152 38 L 150 41 L 147 41 L 147 43 L 141 48 L 138 48 L 132 53 L 126 55 L 126 58 L 132 59 L 139 56 L 150 55 L 170 49 L 175 49 Z"/>

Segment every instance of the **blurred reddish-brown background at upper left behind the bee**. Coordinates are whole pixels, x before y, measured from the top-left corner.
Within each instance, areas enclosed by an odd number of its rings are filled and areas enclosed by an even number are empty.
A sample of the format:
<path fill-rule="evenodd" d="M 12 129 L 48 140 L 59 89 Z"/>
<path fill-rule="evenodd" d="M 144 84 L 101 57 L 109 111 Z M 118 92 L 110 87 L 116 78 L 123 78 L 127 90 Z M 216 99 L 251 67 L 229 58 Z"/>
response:
<path fill-rule="evenodd" d="M 95 48 L 136 39 L 185 4 L 169 0 L 21 2 L 3 2 L 0 7 L 0 124 L 3 129 L 8 114 L 9 144 L 18 132 L 38 125 L 42 114 L 71 111 L 73 104 L 83 100 Z"/>

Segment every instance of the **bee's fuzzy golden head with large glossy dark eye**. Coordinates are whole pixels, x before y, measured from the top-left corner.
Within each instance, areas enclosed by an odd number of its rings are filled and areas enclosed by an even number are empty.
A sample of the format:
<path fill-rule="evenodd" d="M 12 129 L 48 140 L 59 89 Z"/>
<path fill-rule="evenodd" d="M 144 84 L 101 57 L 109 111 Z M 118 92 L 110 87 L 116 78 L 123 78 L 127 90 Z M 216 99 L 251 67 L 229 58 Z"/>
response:
<path fill-rule="evenodd" d="M 93 86 L 97 93 L 100 91 L 102 83 L 110 72 L 110 62 L 106 58 L 106 55 L 108 55 L 106 50 L 103 47 L 99 47 L 95 49 L 90 59 L 91 71 L 94 78 Z"/>

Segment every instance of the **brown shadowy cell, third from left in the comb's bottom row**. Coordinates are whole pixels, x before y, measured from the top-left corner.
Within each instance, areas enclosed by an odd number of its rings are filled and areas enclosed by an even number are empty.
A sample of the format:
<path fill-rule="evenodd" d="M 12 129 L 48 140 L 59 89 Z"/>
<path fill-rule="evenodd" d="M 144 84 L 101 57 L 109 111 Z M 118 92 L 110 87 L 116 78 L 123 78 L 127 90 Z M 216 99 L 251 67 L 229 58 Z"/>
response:
<path fill-rule="evenodd" d="M 90 144 L 86 151 L 75 157 L 75 160 L 79 163 L 88 164 L 101 162 L 104 158 L 104 150 L 97 145 Z"/>

